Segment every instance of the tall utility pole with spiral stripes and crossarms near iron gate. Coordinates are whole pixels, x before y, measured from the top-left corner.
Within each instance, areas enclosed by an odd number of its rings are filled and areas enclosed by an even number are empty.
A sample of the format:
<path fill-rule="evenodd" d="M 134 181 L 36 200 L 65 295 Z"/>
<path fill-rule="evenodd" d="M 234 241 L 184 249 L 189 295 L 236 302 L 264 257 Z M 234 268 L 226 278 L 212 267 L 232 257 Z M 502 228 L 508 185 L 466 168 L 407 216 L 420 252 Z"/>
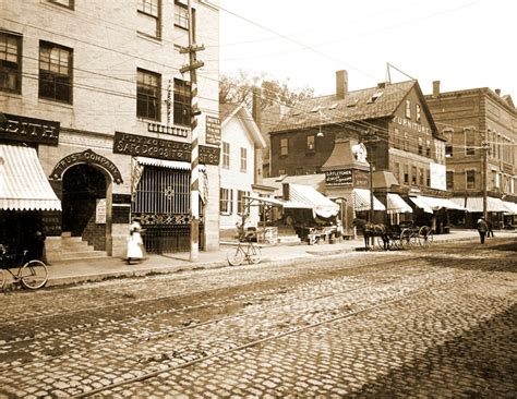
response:
<path fill-rule="evenodd" d="M 200 255 L 200 146 L 197 132 L 197 116 L 201 113 L 197 106 L 197 76 L 196 70 L 204 65 L 197 61 L 196 52 L 204 50 L 204 46 L 195 45 L 194 24 L 192 17 L 192 0 L 188 2 L 189 11 L 189 47 L 181 47 L 180 53 L 189 53 L 189 64 L 180 68 L 181 73 L 190 72 L 191 89 L 191 169 L 190 169 L 190 262 L 197 262 Z"/>

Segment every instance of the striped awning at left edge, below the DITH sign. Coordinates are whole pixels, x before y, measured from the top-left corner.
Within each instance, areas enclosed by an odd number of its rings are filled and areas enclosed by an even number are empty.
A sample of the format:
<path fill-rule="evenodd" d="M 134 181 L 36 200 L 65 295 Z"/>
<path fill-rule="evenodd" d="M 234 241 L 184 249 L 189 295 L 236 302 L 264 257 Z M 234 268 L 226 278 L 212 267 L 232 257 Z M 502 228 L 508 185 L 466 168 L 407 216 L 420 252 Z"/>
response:
<path fill-rule="evenodd" d="M 0 209 L 61 210 L 35 148 L 0 144 Z"/>

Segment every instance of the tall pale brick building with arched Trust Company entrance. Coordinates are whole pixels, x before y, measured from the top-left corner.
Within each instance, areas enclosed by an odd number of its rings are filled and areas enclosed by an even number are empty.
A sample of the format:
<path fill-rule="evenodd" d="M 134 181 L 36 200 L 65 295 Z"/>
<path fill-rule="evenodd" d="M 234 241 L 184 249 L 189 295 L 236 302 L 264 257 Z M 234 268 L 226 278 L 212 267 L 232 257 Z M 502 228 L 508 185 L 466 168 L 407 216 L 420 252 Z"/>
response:
<path fill-rule="evenodd" d="M 192 28 L 206 46 L 197 57 L 207 60 L 197 70 L 201 186 L 207 188 L 201 243 L 216 249 L 215 1 L 193 1 L 192 21 L 187 0 L 1 0 L 0 9 L 0 146 L 7 155 L 24 145 L 37 152 L 24 158 L 37 165 L 10 157 L 11 169 L 21 185 L 44 173 L 59 198 L 44 182 L 38 193 L 51 205 L 38 198 L 23 205 L 31 188 L 8 186 L 0 198 L 2 235 L 23 235 L 40 223 L 50 259 L 65 256 L 70 235 L 120 256 L 129 223 L 139 220 L 148 251 L 190 247 L 190 75 L 179 70 L 189 63 L 180 49 Z"/>

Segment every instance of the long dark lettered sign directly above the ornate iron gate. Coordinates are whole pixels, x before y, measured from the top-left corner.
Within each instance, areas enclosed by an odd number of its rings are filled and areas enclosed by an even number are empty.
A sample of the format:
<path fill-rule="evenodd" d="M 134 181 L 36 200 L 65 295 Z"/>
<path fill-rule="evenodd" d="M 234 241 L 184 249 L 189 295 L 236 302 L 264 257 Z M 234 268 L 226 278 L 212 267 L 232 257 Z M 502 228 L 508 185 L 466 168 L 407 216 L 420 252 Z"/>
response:
<path fill-rule="evenodd" d="M 113 153 L 116 154 L 190 162 L 191 152 L 190 143 L 115 132 Z M 200 145 L 201 164 L 219 165 L 219 156 L 218 147 Z"/>

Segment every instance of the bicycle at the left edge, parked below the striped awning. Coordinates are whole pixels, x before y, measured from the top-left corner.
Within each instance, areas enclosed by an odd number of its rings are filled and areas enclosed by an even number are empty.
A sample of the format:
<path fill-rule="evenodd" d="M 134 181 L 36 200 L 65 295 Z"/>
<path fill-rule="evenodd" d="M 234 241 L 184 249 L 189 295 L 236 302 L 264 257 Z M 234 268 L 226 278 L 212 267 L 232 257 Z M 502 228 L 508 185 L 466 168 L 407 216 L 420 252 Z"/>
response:
<path fill-rule="evenodd" d="M 7 273 L 12 276 L 13 283 L 21 283 L 31 290 L 37 290 L 47 283 L 47 265 L 38 259 L 31 259 L 24 263 L 27 253 L 28 251 L 23 251 L 23 255 L 17 265 L 17 271 L 11 271 L 11 268 L 16 267 L 14 265 L 16 256 L 14 254 L 8 254 L 5 246 L 0 244 L 0 282 L 2 290 L 5 288 Z"/>

